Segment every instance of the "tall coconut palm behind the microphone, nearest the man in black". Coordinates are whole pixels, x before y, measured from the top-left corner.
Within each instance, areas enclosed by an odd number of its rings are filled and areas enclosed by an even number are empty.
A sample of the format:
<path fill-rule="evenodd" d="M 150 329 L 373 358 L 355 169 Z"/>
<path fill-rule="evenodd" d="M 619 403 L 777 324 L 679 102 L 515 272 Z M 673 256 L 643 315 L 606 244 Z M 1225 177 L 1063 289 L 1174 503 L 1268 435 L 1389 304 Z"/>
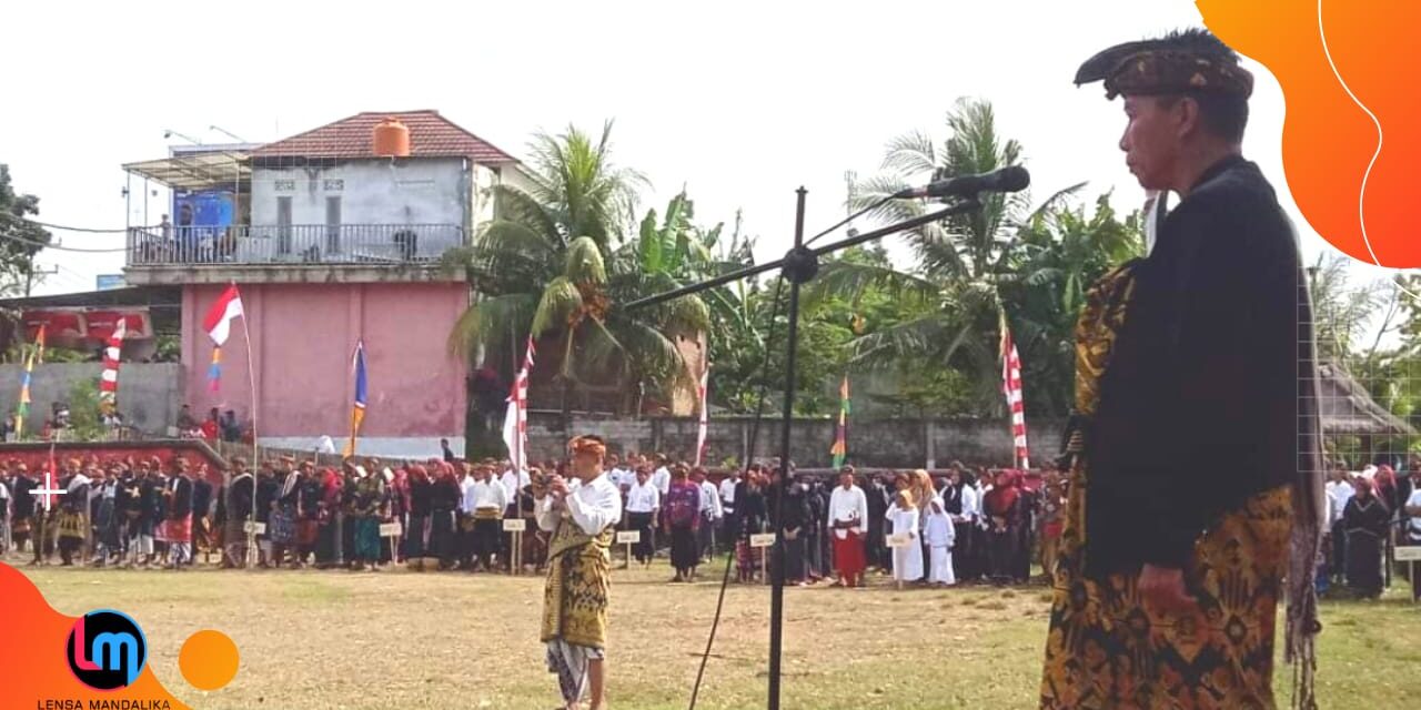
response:
<path fill-rule="evenodd" d="M 865 207 L 938 175 L 983 173 L 1022 162 L 1022 145 L 998 133 L 989 102 L 959 99 L 946 124 L 951 135 L 941 149 L 922 131 L 892 139 L 884 155 L 884 172 L 855 186 L 851 206 Z M 834 263 L 821 270 L 813 291 L 854 295 L 872 284 L 918 307 L 918 317 L 857 338 L 854 362 L 881 366 L 917 356 L 956 368 L 972 382 L 973 400 L 982 413 L 1000 413 L 1005 405 L 999 393 L 998 278 L 1006 271 L 1020 226 L 1081 186 L 1052 195 L 1034 210 L 1025 190 L 982 195 L 980 209 L 905 233 L 917 256 L 914 268 Z M 919 202 L 888 200 L 872 214 L 901 222 L 928 210 Z M 1007 312 L 1007 318 L 1015 321 L 1015 314 Z"/>

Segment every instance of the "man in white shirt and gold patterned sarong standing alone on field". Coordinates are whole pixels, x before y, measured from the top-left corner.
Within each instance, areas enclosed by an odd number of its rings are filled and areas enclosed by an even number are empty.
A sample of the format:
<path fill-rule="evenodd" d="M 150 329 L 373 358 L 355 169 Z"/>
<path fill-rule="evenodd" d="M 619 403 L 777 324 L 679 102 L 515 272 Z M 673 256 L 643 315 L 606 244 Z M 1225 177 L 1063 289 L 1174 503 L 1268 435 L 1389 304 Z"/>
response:
<path fill-rule="evenodd" d="M 557 674 L 563 703 L 601 710 L 607 679 L 607 604 L 611 585 L 611 542 L 621 520 L 621 491 L 603 473 L 607 444 L 595 436 L 573 439 L 571 476 L 549 477 L 534 503 L 537 524 L 553 532 L 543 591 L 543 625 L 549 672 Z"/>

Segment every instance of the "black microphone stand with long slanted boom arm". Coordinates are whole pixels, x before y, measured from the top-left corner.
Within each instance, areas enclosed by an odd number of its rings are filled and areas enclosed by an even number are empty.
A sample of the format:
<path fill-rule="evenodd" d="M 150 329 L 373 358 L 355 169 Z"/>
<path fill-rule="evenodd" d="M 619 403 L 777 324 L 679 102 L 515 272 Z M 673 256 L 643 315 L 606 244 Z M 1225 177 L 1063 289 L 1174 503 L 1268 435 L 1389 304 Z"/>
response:
<path fill-rule="evenodd" d="M 722 274 L 713 278 L 708 278 L 698 284 L 685 285 L 675 288 L 662 294 L 648 295 L 645 298 L 638 298 L 627 304 L 627 310 L 645 308 L 648 305 L 655 305 L 684 295 L 698 294 L 701 291 L 708 291 L 718 285 L 729 284 L 730 281 L 739 281 L 742 278 L 752 277 L 769 271 L 772 268 L 779 268 L 780 275 L 790 283 L 790 297 L 789 297 L 789 338 L 786 344 L 784 356 L 784 412 L 783 420 L 780 422 L 780 481 L 776 486 L 774 496 L 774 547 L 772 550 L 772 559 L 774 561 L 770 572 L 770 670 L 769 670 L 769 703 L 766 707 L 769 710 L 779 710 L 780 707 L 780 655 L 783 649 L 783 630 L 784 630 L 784 525 L 783 508 L 784 508 L 784 491 L 789 486 L 790 477 L 790 425 L 794 419 L 794 358 L 796 349 L 799 346 L 799 300 L 800 300 L 800 285 L 809 283 L 818 273 L 818 257 L 824 254 L 831 254 L 865 241 L 872 241 L 875 239 L 882 239 L 890 234 L 897 234 L 899 231 L 907 231 L 914 227 L 921 227 L 932 222 L 942 220 L 953 214 L 963 214 L 979 209 L 982 204 L 976 199 L 963 199 L 962 202 L 949 204 L 941 210 L 922 214 L 919 217 L 912 217 L 897 224 L 891 224 L 872 231 L 865 231 L 840 241 L 833 241 L 824 244 L 818 248 L 809 248 L 804 246 L 804 187 L 796 190 L 797 203 L 794 210 L 794 247 L 790 248 L 784 258 L 779 261 L 769 261 L 764 264 L 756 264 L 747 268 L 732 271 L 729 274 Z M 772 324 L 773 327 L 773 324 Z M 753 452 L 750 452 L 753 454 Z"/>

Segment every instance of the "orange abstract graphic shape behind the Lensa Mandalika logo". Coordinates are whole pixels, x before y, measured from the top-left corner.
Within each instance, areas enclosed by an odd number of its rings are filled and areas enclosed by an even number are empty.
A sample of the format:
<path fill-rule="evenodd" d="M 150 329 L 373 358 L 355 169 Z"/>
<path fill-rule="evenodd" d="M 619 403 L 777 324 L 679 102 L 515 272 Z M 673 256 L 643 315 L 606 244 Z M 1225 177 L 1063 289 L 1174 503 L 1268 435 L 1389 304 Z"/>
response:
<path fill-rule="evenodd" d="M 34 582 L 6 564 L 0 564 L 0 599 L 6 601 L 7 611 L 6 635 L 0 642 L 0 710 L 45 707 L 47 701 L 57 701 L 58 707 L 70 701 L 90 707 L 90 700 L 188 707 L 163 689 L 151 663 L 144 665 L 132 684 L 117 690 L 95 690 L 80 682 L 70 670 L 67 655 L 70 632 L 80 618 L 54 611 Z M 151 648 L 146 656 L 152 657 Z"/>

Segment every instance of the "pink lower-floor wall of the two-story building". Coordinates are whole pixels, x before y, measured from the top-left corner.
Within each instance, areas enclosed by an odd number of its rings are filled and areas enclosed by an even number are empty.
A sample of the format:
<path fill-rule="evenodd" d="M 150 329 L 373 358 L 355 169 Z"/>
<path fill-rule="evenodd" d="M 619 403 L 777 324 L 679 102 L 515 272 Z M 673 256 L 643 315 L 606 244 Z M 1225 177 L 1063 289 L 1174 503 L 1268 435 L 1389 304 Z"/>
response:
<path fill-rule="evenodd" d="M 195 416 L 217 406 L 249 422 L 247 335 L 240 321 L 222 348 L 222 388 L 212 392 L 212 339 L 202 321 L 223 285 L 185 285 L 182 359 Z M 365 338 L 369 405 L 362 436 L 463 435 L 465 368 L 449 355 L 449 328 L 468 304 L 468 284 L 237 284 L 256 359 L 257 435 L 296 437 L 350 432 L 351 352 Z"/>

